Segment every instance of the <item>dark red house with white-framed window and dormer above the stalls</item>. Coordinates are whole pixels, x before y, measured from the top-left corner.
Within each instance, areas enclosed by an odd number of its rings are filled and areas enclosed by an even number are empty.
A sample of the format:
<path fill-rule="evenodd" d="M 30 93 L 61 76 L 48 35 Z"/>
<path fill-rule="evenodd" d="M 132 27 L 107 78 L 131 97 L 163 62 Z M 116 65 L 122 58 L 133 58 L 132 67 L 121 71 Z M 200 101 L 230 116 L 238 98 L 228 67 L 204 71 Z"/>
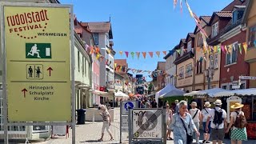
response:
<path fill-rule="evenodd" d="M 220 75 L 220 86 L 226 90 L 246 89 L 249 85 L 246 80 L 238 82 L 239 76 L 249 75 L 249 64 L 244 61 L 245 51 L 241 47 L 242 43 L 246 42 L 246 30 L 242 28 L 242 15 L 245 9 L 246 6 L 234 6 L 230 25 L 223 29 L 222 36 L 219 38 L 222 46 L 227 46 L 228 50 L 222 52 Z"/>

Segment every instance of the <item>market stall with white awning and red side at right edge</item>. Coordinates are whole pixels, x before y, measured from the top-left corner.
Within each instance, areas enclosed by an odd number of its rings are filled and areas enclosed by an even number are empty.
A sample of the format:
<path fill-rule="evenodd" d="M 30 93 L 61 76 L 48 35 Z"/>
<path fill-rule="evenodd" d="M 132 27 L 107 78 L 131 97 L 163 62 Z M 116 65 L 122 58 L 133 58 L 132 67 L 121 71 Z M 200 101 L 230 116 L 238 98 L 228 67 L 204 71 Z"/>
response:
<path fill-rule="evenodd" d="M 226 98 L 227 102 L 227 114 L 230 115 L 230 106 L 235 102 L 242 102 L 244 106 L 242 111 L 244 112 L 248 125 L 246 126 L 248 138 L 256 138 L 256 89 L 243 89 L 243 90 L 229 90 L 226 92 L 220 92 L 213 95 L 216 97 L 229 97 Z M 229 121 L 228 117 L 228 122 Z"/>

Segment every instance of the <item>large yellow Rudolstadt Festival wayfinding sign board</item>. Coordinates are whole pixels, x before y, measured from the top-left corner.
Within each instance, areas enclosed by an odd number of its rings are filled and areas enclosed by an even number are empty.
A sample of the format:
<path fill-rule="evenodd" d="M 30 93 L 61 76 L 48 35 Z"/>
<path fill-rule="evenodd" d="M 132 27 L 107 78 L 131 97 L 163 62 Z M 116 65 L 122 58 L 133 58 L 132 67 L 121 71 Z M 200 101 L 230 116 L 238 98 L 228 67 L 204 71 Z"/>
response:
<path fill-rule="evenodd" d="M 8 121 L 70 122 L 70 8 L 4 6 L 3 15 Z"/>

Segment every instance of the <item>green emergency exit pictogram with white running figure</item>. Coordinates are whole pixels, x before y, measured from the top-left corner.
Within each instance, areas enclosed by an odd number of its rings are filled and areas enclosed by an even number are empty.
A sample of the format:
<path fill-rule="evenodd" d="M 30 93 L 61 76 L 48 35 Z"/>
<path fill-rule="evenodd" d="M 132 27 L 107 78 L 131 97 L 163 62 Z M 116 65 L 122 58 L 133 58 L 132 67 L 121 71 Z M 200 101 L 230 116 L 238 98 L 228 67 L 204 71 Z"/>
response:
<path fill-rule="evenodd" d="M 51 58 L 50 43 L 26 43 L 26 58 Z"/>

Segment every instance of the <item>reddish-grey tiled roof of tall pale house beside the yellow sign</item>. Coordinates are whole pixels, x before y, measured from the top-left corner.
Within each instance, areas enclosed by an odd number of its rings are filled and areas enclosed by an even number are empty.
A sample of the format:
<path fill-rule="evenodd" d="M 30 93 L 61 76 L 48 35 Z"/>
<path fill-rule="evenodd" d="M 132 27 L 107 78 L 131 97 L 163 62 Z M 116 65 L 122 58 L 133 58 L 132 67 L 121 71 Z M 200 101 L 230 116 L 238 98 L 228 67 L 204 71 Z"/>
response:
<path fill-rule="evenodd" d="M 82 26 L 88 27 L 92 33 L 110 32 L 110 22 L 81 22 Z"/>

